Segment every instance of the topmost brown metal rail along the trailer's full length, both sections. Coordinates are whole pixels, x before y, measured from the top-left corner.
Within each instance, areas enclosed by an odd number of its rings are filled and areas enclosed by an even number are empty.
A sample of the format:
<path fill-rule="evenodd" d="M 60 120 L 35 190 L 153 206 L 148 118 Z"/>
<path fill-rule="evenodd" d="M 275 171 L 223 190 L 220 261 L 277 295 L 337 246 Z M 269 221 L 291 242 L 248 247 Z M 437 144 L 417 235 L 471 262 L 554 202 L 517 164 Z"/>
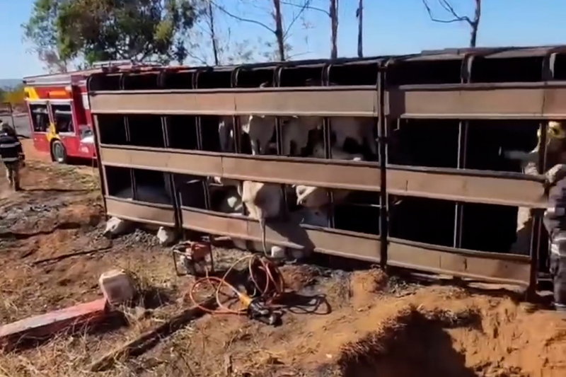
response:
<path fill-rule="evenodd" d="M 374 86 L 91 92 L 93 114 L 377 117 Z M 566 117 L 566 82 L 393 86 L 386 115 L 402 118 Z"/>

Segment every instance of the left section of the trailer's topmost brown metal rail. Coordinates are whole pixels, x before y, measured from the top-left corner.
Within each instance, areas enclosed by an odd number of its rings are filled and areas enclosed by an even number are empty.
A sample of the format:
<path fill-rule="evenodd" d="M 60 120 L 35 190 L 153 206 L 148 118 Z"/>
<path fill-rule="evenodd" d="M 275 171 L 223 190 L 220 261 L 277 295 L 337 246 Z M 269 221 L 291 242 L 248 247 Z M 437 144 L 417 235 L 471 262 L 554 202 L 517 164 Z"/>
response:
<path fill-rule="evenodd" d="M 375 86 L 95 91 L 93 114 L 378 116 Z"/>

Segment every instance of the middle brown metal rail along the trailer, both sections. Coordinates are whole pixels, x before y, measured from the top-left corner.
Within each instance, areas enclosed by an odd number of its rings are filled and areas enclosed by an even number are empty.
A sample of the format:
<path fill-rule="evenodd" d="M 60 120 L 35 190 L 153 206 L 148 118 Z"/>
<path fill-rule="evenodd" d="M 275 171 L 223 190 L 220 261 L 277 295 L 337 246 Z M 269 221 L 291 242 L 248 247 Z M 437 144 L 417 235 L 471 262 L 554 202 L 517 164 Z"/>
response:
<path fill-rule="evenodd" d="M 377 192 L 379 163 L 100 145 L 103 166 Z M 545 207 L 542 177 L 483 170 L 387 167 L 393 195 Z"/>

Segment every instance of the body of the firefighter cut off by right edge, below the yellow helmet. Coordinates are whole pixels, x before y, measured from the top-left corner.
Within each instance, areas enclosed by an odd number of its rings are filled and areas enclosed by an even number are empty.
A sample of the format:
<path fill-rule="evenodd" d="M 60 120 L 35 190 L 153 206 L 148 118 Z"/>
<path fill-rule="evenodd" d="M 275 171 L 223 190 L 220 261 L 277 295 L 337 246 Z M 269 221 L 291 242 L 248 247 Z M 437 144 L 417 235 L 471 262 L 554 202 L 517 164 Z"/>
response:
<path fill-rule="evenodd" d="M 554 284 L 554 306 L 566 311 L 566 165 L 546 173 L 548 206 L 543 222 L 550 238 L 550 274 Z"/>

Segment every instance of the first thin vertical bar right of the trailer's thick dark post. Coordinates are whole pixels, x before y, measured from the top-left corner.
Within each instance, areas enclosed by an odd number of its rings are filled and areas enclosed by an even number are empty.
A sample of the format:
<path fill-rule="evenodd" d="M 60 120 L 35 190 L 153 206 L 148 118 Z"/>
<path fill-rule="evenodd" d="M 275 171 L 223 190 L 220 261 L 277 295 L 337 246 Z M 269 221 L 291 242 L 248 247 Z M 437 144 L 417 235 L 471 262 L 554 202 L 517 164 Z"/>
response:
<path fill-rule="evenodd" d="M 470 83 L 472 74 L 473 55 L 466 54 L 462 59 L 462 66 L 460 69 L 460 82 Z M 458 161 L 456 168 L 466 168 L 466 154 L 468 149 L 468 120 L 461 120 L 458 123 Z M 463 233 L 463 204 L 456 202 L 454 210 L 454 248 L 462 247 L 462 233 Z"/>

